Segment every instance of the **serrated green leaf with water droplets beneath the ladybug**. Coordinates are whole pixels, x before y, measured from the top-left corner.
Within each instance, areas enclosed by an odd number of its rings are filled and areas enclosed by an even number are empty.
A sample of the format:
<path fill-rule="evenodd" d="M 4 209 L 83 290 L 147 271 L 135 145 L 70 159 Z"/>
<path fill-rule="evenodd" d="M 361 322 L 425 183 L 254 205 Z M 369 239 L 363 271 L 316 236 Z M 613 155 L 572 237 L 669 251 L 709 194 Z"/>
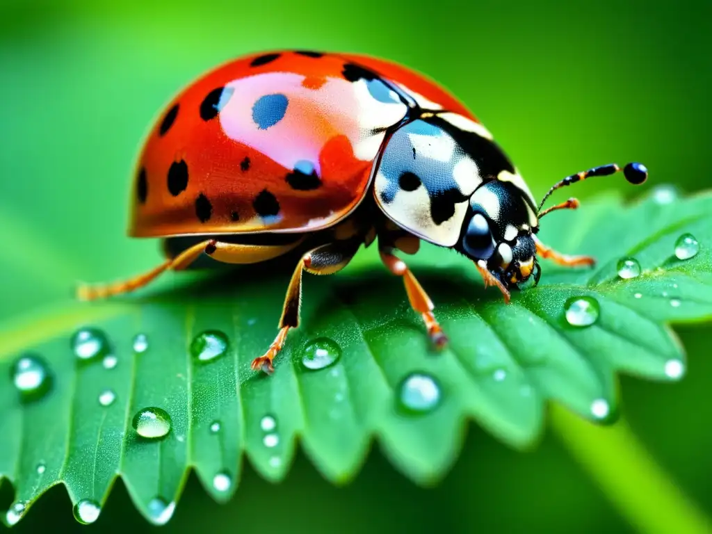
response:
<path fill-rule="evenodd" d="M 675 243 L 686 233 L 699 252 L 679 260 Z M 7 518 L 26 513 L 56 483 L 75 504 L 103 506 L 121 476 L 137 508 L 164 523 L 189 468 L 226 501 L 243 456 L 279 481 L 298 441 L 335 483 L 355 476 L 374 439 L 407 476 L 433 483 L 456 459 L 468 419 L 525 447 L 540 433 L 545 402 L 607 423 L 617 415 L 616 373 L 668 382 L 684 375 L 683 349 L 666 323 L 712 317 L 711 194 L 654 194 L 631 206 L 600 197 L 577 212 L 551 214 L 540 236 L 599 263 L 565 269 L 543 261 L 540 285 L 505 305 L 455 253 L 424 246 L 405 257 L 451 339 L 439 354 L 374 248 L 337 276 L 305 276 L 303 323 L 272 377 L 249 365 L 276 334 L 291 262 L 169 274 L 137 295 L 58 300 L 15 318 L 0 335 L 0 478 L 16 491 Z M 624 257 L 637 258 L 640 276 L 617 276 Z M 600 316 L 580 328 L 567 323 L 564 309 L 583 296 L 595 299 Z M 72 345 L 82 328 L 107 340 L 87 360 Z M 194 357 L 194 338 L 215 331 L 226 336 L 224 354 Z M 147 347 L 135 342 L 139 334 Z M 312 370 L 303 358 L 314 346 L 340 357 Z M 28 354 L 49 378 L 45 389 L 23 396 L 13 377 Z M 106 356 L 116 365 L 105 365 Z M 163 439 L 143 439 L 132 427 L 148 407 L 169 414 Z"/>

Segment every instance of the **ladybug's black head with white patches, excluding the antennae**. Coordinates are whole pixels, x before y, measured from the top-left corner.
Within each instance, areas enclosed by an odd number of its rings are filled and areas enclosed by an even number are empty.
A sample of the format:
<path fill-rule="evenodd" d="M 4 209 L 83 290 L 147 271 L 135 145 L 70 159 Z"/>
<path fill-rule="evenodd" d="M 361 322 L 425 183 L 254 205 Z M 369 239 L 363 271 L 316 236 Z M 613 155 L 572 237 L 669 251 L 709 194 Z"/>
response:
<path fill-rule="evenodd" d="M 492 180 L 478 187 L 469 200 L 468 213 L 456 249 L 486 267 L 504 286 L 516 287 L 534 276 L 539 281 L 535 207 L 513 182 Z"/>

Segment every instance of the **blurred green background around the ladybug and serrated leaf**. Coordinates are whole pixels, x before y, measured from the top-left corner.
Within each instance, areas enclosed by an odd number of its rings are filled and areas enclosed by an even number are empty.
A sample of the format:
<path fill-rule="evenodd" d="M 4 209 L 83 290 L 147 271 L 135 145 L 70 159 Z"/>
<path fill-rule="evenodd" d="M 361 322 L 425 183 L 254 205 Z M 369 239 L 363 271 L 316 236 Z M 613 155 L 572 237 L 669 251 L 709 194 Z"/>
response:
<path fill-rule="evenodd" d="M 371 53 L 422 70 L 485 122 L 537 197 L 567 174 L 629 160 L 649 167 L 646 188 L 708 188 L 710 20 L 707 0 L 0 0 L 0 239 L 14 250 L 0 261 L 0 320 L 66 298 L 86 273 L 120 278 L 156 263 L 154 241 L 125 244 L 138 144 L 179 88 L 253 51 Z M 577 195 L 612 188 L 641 192 L 602 179 Z M 17 282 L 28 277 L 30 285 Z M 686 379 L 664 386 L 624 378 L 622 410 L 656 461 L 712 515 L 711 329 L 676 330 L 689 352 Z M 642 498 L 655 491 L 640 488 Z M 61 488 L 16 531 L 45 528 L 80 529 Z M 153 530 L 119 483 L 88 530 L 129 528 Z M 226 506 L 191 478 L 164 530 L 199 529 L 632 531 L 553 434 L 520 454 L 475 426 L 437 488 L 413 486 L 377 449 L 345 488 L 301 457 L 278 486 L 248 468 Z"/>

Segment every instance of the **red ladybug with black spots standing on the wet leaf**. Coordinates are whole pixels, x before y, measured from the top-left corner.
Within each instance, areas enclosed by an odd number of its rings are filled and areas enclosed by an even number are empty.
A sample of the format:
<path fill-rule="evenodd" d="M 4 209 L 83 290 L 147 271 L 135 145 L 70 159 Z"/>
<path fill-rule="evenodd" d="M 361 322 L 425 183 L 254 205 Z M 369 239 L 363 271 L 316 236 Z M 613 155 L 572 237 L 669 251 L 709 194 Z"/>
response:
<path fill-rule="evenodd" d="M 341 53 L 245 56 L 182 90 L 140 153 L 130 236 L 162 238 L 166 261 L 125 282 L 83 286 L 79 297 L 135 290 L 204 254 L 245 264 L 300 251 L 276 339 L 252 362 L 272 372 L 299 324 L 302 273 L 336 273 L 377 239 L 442 347 L 434 305 L 396 251 L 415 253 L 420 240 L 453 248 L 508 302 L 530 277 L 538 283 L 538 256 L 594 263 L 536 236 L 541 217 L 578 201 L 542 207 L 560 187 L 620 170 L 633 184 L 647 177 L 639 163 L 607 164 L 562 179 L 536 204 L 486 127 L 424 75 Z"/>

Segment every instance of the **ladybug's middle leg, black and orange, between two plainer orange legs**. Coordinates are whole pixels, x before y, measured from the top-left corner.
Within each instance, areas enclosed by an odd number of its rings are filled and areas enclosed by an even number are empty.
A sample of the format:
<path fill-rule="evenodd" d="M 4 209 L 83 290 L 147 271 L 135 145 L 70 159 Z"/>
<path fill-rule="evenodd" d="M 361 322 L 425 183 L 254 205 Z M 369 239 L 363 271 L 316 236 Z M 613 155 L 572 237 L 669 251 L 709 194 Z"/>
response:
<path fill-rule="evenodd" d="M 302 294 L 302 273 L 333 274 L 347 266 L 358 251 L 363 239 L 347 239 L 313 248 L 302 256 L 289 281 L 284 298 L 279 333 L 264 355 L 252 360 L 253 370 L 263 370 L 267 374 L 274 371 L 273 360 L 283 349 L 290 328 L 299 326 L 299 310 Z"/>

